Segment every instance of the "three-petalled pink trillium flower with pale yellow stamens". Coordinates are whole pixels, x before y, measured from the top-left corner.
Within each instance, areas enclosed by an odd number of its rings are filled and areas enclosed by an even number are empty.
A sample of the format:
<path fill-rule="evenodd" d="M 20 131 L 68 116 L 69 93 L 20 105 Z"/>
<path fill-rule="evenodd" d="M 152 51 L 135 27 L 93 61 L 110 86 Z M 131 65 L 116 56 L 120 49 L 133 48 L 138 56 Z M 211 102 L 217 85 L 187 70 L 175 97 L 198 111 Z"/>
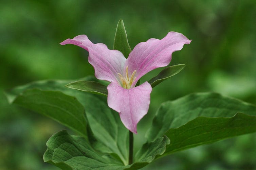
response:
<path fill-rule="evenodd" d="M 105 44 L 93 44 L 86 35 L 61 42 L 74 44 L 89 52 L 88 61 L 95 69 L 95 77 L 111 82 L 108 89 L 108 106 L 120 114 L 127 129 L 137 133 L 137 124 L 147 114 L 152 87 L 148 82 L 136 86 L 147 72 L 167 66 L 171 54 L 189 44 L 184 35 L 169 32 L 163 39 L 151 38 L 134 47 L 126 59 L 122 52 L 110 50 Z"/>

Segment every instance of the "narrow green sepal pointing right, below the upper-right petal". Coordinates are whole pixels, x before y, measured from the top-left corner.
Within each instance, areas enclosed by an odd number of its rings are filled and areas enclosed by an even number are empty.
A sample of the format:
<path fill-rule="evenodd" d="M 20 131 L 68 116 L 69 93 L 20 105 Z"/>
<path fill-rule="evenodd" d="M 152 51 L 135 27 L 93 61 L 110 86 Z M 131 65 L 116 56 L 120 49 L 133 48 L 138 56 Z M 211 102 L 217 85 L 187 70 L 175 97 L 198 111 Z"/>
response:
<path fill-rule="evenodd" d="M 163 69 L 156 77 L 153 77 L 148 82 L 151 85 L 151 87 L 153 88 L 154 86 L 165 81 L 166 79 L 178 74 L 185 66 L 186 66 L 185 64 L 169 66 L 169 67 Z"/>

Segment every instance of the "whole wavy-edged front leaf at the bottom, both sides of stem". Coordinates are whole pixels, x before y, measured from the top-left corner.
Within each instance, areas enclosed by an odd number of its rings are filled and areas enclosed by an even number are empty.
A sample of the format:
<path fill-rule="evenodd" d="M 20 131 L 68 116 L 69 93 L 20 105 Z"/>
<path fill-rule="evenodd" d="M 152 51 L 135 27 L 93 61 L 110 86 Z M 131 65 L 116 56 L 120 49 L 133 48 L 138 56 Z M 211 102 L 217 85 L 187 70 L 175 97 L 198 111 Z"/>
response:
<path fill-rule="evenodd" d="M 47 150 L 43 155 L 44 162 L 61 169 L 140 169 L 152 162 L 156 156 L 164 153 L 170 141 L 164 136 L 154 142 L 145 144 L 136 154 L 135 163 L 123 165 L 113 160 L 110 155 L 95 151 L 81 136 L 69 135 L 66 131 L 55 133 L 46 143 Z"/>

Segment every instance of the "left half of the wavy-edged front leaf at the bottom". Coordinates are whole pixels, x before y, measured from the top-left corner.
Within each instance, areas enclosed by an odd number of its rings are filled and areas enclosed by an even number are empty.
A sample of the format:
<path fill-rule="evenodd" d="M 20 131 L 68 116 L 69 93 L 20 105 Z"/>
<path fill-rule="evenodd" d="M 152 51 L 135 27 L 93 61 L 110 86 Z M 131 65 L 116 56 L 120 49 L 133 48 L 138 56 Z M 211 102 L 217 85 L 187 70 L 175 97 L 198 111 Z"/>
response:
<path fill-rule="evenodd" d="M 120 169 L 122 166 L 109 157 L 104 158 L 104 155 L 96 152 L 83 137 L 70 136 L 66 131 L 55 133 L 46 145 L 44 162 L 61 169 Z"/>

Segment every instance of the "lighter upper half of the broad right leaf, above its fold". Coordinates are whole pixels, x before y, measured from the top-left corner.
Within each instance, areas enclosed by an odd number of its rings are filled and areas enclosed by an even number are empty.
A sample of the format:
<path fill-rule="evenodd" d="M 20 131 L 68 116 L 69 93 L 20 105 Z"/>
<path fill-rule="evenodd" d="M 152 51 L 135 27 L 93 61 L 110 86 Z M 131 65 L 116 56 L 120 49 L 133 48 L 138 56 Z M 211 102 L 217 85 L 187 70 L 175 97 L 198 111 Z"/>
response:
<path fill-rule="evenodd" d="M 218 93 L 194 93 L 163 103 L 146 133 L 154 141 L 170 128 L 179 128 L 199 116 L 231 118 L 236 113 L 256 116 L 256 106 Z M 214 120 L 214 119 L 213 119 Z"/>

